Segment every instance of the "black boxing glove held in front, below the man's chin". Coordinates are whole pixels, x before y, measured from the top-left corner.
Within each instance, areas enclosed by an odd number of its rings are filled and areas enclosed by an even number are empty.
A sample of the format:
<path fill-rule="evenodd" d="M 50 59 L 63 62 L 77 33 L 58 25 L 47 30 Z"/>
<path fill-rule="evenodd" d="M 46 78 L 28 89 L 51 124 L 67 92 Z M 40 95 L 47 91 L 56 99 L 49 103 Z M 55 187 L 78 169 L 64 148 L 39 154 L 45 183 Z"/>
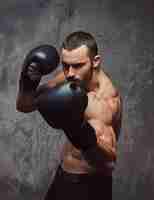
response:
<path fill-rule="evenodd" d="M 95 130 L 83 118 L 88 97 L 79 82 L 66 81 L 47 88 L 36 98 L 35 104 L 45 121 L 64 130 L 76 148 L 85 151 L 96 145 Z"/>

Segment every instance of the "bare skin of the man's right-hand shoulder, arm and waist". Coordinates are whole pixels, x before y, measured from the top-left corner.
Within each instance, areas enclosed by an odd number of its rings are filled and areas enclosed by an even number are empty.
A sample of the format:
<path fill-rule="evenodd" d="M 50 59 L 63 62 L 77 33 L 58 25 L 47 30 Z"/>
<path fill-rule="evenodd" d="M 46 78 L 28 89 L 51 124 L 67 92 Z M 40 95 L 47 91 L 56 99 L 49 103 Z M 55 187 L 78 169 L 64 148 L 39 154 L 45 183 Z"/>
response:
<path fill-rule="evenodd" d="M 97 136 L 97 144 L 105 153 L 108 161 L 115 162 L 117 158 L 116 130 L 112 124 L 120 123 L 118 118 L 120 110 L 120 98 L 108 77 L 100 72 L 99 88 L 89 91 L 88 107 L 85 111 L 85 119 L 94 127 Z M 110 91 L 108 90 L 110 88 Z M 94 169 L 82 156 L 82 153 L 74 148 L 71 143 L 64 147 L 63 168 L 72 173 L 87 173 L 100 171 L 111 173 L 113 168 L 103 163 Z"/>

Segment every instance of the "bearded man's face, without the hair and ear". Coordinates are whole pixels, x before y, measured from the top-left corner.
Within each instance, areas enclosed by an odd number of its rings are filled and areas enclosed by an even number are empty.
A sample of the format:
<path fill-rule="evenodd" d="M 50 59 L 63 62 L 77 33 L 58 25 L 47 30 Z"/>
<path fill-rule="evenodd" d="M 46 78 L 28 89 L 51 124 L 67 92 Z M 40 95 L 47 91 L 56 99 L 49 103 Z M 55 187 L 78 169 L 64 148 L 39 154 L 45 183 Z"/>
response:
<path fill-rule="evenodd" d="M 93 74 L 93 60 L 88 55 L 88 48 L 82 45 L 73 50 L 62 49 L 61 56 L 66 79 L 79 79 L 88 84 Z"/>

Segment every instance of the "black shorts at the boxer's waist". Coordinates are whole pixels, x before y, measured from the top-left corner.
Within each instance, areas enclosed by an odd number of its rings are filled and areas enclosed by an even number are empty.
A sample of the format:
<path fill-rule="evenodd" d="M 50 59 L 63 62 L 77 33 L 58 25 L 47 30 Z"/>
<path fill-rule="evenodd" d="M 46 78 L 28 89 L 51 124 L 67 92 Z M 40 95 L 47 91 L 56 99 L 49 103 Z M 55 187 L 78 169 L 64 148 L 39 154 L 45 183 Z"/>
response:
<path fill-rule="evenodd" d="M 58 168 L 45 200 L 111 200 L 112 176 L 72 174 Z"/>

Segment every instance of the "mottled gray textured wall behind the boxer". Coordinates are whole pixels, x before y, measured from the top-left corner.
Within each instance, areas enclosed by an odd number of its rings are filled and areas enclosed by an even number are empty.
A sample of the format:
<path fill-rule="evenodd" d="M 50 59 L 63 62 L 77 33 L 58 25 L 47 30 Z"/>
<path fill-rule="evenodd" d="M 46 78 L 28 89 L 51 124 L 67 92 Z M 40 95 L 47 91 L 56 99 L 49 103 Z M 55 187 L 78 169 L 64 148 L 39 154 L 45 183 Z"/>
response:
<path fill-rule="evenodd" d="M 38 113 L 16 111 L 17 82 L 31 48 L 59 47 L 78 29 L 96 36 L 104 69 L 124 101 L 113 199 L 154 195 L 153 6 L 152 0 L 5 0 L 0 5 L 0 199 L 42 199 L 52 181 L 65 138 Z"/>

